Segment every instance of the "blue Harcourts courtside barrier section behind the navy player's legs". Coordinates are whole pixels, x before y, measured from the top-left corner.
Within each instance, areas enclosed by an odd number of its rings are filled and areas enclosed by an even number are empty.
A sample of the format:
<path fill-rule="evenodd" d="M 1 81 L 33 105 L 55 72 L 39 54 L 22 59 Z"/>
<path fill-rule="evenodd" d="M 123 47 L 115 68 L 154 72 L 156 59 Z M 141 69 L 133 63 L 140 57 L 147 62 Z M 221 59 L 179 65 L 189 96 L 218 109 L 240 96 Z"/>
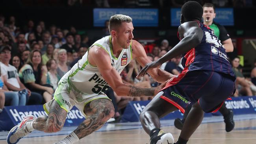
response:
<path fill-rule="evenodd" d="M 126 106 L 124 114 L 122 115 L 122 122 L 138 122 L 139 114 L 145 108 L 150 101 L 131 101 Z M 233 109 L 234 114 L 250 114 L 256 113 L 256 96 L 254 97 L 232 97 L 232 100 L 227 100 L 226 107 Z M 219 111 L 217 113 L 205 113 L 204 116 L 221 115 Z M 161 120 L 171 120 L 176 118 L 182 118 L 183 114 L 180 111 L 174 111 L 173 113 L 167 114 Z"/>

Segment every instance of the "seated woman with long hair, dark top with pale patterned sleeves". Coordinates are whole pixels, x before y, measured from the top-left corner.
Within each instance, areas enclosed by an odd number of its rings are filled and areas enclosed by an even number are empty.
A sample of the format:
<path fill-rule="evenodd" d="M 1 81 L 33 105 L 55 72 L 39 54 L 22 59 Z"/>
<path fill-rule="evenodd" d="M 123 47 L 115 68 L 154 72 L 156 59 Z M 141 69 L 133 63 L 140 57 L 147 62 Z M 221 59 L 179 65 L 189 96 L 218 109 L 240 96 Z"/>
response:
<path fill-rule="evenodd" d="M 42 66 L 41 52 L 33 50 L 27 63 L 20 68 L 19 77 L 32 92 L 43 95 L 45 102 L 52 100 L 54 90 L 46 84 L 47 69 Z"/>

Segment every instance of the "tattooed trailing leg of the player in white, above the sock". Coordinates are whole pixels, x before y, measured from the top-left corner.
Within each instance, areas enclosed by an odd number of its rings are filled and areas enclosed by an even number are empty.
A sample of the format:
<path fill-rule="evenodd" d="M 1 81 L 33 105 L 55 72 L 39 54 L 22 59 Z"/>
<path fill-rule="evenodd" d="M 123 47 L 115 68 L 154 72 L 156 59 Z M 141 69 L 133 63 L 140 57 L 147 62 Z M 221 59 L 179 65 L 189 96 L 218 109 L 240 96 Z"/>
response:
<path fill-rule="evenodd" d="M 67 117 L 67 111 L 54 100 L 49 116 L 39 116 L 33 122 L 33 128 L 46 133 L 56 133 L 61 130 Z"/>

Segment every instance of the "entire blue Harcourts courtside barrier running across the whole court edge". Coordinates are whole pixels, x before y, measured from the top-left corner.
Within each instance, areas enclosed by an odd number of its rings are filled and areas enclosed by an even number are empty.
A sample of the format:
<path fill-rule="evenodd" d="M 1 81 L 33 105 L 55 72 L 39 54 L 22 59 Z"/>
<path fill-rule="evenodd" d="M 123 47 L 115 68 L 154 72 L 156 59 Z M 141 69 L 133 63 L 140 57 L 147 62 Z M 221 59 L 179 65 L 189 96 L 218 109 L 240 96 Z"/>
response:
<path fill-rule="evenodd" d="M 122 122 L 138 122 L 139 114 L 150 101 L 131 101 L 126 106 L 122 115 Z M 256 113 L 256 96 L 238 97 L 232 100 L 226 100 L 226 107 L 233 109 L 234 114 L 255 114 Z M 43 105 L 28 105 L 28 106 L 7 106 L 0 113 L 0 131 L 10 130 L 12 127 L 20 123 L 24 116 L 33 114 L 35 117 L 47 115 L 43 109 Z M 217 113 L 206 113 L 204 116 L 220 115 Z M 161 118 L 161 120 L 171 120 L 182 118 L 183 114 L 180 111 L 174 111 Z M 83 114 L 73 107 L 67 114 L 67 119 L 64 126 L 78 126 L 85 120 Z"/>

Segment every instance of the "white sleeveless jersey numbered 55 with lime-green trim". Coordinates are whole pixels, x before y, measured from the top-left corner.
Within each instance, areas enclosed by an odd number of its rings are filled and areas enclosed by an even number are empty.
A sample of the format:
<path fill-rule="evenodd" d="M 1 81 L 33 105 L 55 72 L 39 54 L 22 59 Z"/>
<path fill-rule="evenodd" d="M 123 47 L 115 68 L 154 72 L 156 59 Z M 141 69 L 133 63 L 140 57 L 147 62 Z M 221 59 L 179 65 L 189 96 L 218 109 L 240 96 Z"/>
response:
<path fill-rule="evenodd" d="M 119 74 L 132 60 L 132 44 L 130 44 L 130 48 L 123 49 L 119 57 L 113 55 L 111 36 L 103 37 L 96 41 L 92 46 L 94 45 L 100 46 L 106 50 L 111 58 L 109 59 L 111 65 Z M 69 90 L 72 90 L 72 92 L 77 94 L 76 100 L 78 102 L 82 102 L 83 99 L 88 97 L 102 95 L 103 92 L 109 88 L 108 83 L 101 76 L 98 68 L 89 63 L 89 49 L 85 55 L 83 55 L 82 59 L 80 59 L 78 63 L 76 63 L 59 81 L 59 83 L 63 81 L 68 82 Z M 94 59 L 97 59 L 97 57 L 94 57 Z"/>

